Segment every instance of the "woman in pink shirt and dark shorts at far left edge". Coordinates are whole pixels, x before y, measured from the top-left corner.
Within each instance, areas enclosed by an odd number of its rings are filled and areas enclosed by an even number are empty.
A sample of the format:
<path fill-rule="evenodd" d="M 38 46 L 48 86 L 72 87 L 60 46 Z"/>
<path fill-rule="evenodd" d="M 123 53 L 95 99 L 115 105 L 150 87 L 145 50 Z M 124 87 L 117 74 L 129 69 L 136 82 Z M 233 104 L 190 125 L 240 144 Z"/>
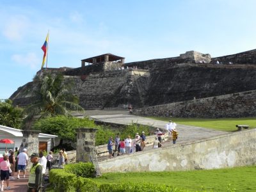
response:
<path fill-rule="evenodd" d="M 1 188 L 0 191 L 4 191 L 4 180 L 6 180 L 7 188 L 10 189 L 9 186 L 9 168 L 10 168 L 10 163 L 8 161 L 8 154 L 4 153 L 3 154 L 4 161 L 0 163 L 0 169 L 1 169 Z"/>

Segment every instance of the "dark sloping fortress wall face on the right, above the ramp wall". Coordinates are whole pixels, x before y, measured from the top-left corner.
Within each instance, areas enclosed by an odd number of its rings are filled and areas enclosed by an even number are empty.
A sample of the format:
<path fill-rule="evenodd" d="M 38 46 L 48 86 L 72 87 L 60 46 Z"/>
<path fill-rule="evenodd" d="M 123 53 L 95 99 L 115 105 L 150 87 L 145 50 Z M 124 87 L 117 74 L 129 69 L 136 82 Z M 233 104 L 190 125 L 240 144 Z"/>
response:
<path fill-rule="evenodd" d="M 256 89 L 256 67 L 178 64 L 150 71 L 145 106 Z"/>

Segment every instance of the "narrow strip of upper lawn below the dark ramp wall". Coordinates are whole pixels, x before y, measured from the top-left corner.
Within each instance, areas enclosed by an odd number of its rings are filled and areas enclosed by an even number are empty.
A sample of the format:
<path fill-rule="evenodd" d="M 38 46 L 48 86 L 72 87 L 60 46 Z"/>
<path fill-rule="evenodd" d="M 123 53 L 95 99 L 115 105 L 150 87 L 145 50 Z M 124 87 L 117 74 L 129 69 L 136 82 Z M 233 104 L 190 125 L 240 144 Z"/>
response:
<path fill-rule="evenodd" d="M 156 120 L 169 122 L 168 117 L 145 116 Z M 247 118 L 171 118 L 173 122 L 183 125 L 192 125 L 215 129 L 219 131 L 237 131 L 236 125 L 249 125 L 250 129 L 256 127 L 256 117 Z"/>

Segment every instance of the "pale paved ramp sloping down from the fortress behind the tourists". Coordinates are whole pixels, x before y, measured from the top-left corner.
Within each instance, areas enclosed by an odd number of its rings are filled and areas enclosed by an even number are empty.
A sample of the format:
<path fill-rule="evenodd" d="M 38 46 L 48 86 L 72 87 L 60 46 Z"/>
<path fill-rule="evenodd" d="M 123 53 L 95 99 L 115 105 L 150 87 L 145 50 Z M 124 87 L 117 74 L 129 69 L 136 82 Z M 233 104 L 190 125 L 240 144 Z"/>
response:
<path fill-rule="evenodd" d="M 86 115 L 102 122 L 111 122 L 125 125 L 129 125 L 134 122 L 143 125 L 152 125 L 161 129 L 164 129 L 164 125 L 168 123 L 161 120 L 153 120 L 151 118 L 130 115 L 127 110 L 88 110 L 86 111 Z M 177 124 L 176 128 L 179 131 L 179 140 L 177 140 L 179 141 L 179 143 L 184 143 L 184 141 L 211 138 L 212 136 L 218 136 L 221 134 L 227 134 L 227 132 L 223 131 L 215 131 L 212 129 L 205 129 L 202 127 L 194 127 L 181 124 Z"/>

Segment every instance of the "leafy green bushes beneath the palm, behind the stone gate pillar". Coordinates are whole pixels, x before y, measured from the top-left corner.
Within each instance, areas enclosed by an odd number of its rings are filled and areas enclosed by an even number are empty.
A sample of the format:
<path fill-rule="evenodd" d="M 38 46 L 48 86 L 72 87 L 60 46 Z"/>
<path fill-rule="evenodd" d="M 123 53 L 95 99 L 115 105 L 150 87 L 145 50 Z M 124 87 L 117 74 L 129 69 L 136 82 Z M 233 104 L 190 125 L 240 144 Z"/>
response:
<path fill-rule="evenodd" d="M 88 118 L 76 118 L 72 116 L 50 116 L 36 120 L 33 128 L 46 134 L 56 134 L 63 140 L 76 141 L 76 129 L 79 127 L 97 127 L 93 120 Z"/>

